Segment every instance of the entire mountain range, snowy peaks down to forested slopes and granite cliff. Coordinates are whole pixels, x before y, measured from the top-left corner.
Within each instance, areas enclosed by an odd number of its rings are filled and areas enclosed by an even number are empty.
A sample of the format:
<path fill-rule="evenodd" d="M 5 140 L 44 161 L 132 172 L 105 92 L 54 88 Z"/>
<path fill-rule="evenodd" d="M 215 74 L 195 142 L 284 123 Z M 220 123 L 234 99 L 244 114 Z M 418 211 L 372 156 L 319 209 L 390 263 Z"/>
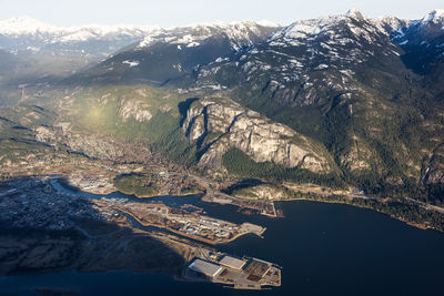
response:
<path fill-rule="evenodd" d="M 2 104 L 54 112 L 49 131 L 143 143 L 212 177 L 444 202 L 442 10 L 173 29 L 20 18 L 0 22 L 0 49 Z"/>

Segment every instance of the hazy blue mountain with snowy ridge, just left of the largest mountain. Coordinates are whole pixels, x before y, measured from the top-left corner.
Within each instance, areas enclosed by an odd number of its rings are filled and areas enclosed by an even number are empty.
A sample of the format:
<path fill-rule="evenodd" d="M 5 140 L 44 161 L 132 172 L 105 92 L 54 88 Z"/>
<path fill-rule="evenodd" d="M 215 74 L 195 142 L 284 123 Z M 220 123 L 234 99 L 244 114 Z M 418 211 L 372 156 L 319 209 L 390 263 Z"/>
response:
<path fill-rule="evenodd" d="M 82 75 L 99 81 L 125 79 L 162 84 L 266 40 L 279 29 L 271 25 L 240 22 L 160 30 L 147 34 L 140 42 L 117 52 Z"/>

